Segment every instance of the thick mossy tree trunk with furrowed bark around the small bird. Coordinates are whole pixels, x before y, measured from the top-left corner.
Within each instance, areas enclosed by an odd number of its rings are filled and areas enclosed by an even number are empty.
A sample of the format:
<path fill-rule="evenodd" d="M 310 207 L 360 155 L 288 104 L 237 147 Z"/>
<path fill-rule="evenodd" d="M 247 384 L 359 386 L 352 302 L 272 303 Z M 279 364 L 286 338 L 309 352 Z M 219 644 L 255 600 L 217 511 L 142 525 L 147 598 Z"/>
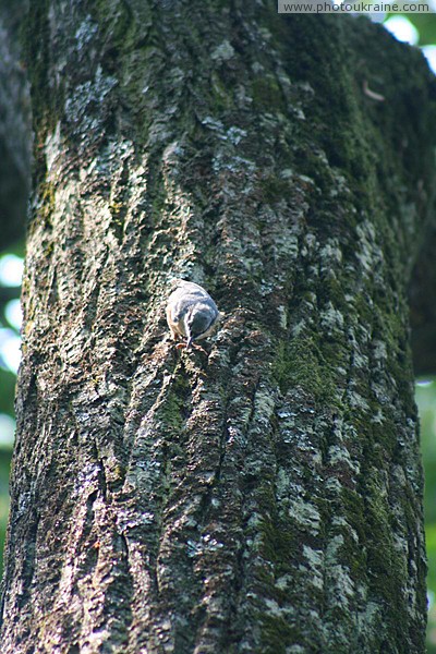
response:
<path fill-rule="evenodd" d="M 23 43 L 2 652 L 424 652 L 421 55 L 213 0 L 35 0 Z M 226 312 L 208 356 L 172 348 L 172 276 Z"/>

